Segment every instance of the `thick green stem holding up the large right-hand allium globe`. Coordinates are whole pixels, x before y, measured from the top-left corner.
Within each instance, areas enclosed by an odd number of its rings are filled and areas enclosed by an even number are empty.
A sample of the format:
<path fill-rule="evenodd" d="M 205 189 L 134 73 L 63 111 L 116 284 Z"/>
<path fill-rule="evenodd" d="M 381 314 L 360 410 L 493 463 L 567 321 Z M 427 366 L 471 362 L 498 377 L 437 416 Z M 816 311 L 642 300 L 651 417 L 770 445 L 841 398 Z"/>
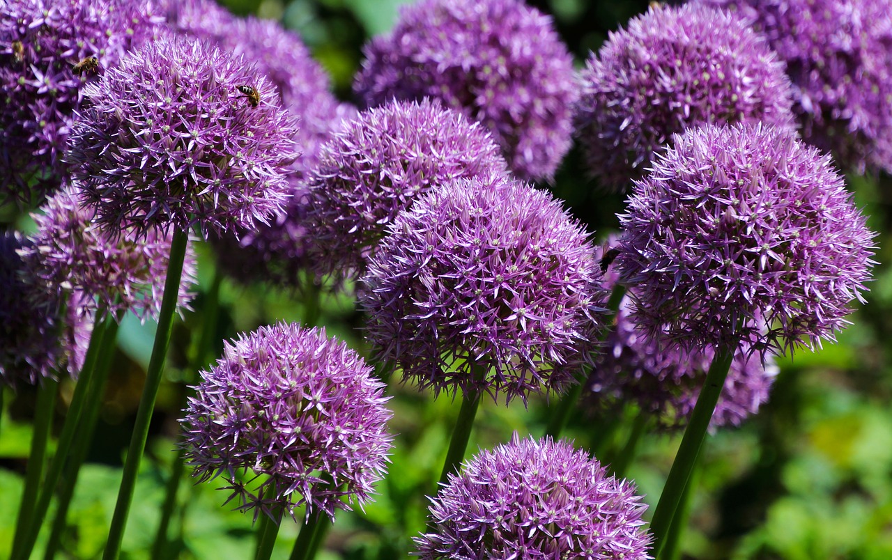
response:
<path fill-rule="evenodd" d="M 734 358 L 734 349 L 719 350 L 715 352 L 713 363 L 706 374 L 706 382 L 700 391 L 694 412 L 690 416 L 690 424 L 681 437 L 681 445 L 675 455 L 672 469 L 666 478 L 663 493 L 657 502 L 657 510 L 654 519 L 650 522 L 650 531 L 654 535 L 654 548 L 651 554 L 659 556 L 665 544 L 665 535 L 672 524 L 675 512 L 678 509 L 684 487 L 688 483 L 690 472 L 697 462 L 700 448 L 706 439 L 706 428 L 713 417 L 715 404 L 722 394 L 725 378 L 728 376 L 728 368 Z"/>

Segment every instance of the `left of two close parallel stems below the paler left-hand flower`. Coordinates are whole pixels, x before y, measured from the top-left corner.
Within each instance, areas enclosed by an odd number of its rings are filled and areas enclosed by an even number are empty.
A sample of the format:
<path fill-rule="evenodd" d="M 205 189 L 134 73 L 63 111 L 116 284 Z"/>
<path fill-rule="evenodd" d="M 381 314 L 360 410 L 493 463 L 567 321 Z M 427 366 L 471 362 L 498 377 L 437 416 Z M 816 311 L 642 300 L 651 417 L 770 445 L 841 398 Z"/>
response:
<path fill-rule="evenodd" d="M 37 504 L 34 506 L 34 513 L 28 523 L 28 530 L 24 532 L 24 537 L 21 541 L 21 547 L 13 550 L 11 557 L 15 560 L 27 560 L 31 556 L 31 550 L 34 548 L 34 543 L 37 542 L 37 534 L 44 523 L 46 510 L 50 505 L 50 500 L 53 499 L 56 483 L 59 482 L 59 476 L 62 474 L 62 466 L 65 465 L 70 455 L 71 442 L 74 441 L 81 413 L 87 405 L 87 388 L 90 385 L 97 358 L 108 351 L 105 348 L 104 334 L 114 319 L 105 309 L 98 309 L 96 317 L 104 318 L 99 325 L 95 326 L 93 334 L 90 335 L 87 357 L 84 359 L 84 366 L 80 370 L 78 383 L 75 385 L 74 394 L 71 396 L 71 404 L 68 408 L 68 414 L 65 415 L 65 422 L 62 424 L 62 433 L 59 435 L 59 441 L 56 444 L 55 455 L 50 462 L 49 469 L 46 471 L 44 483 L 37 498 Z M 95 406 L 95 403 L 89 404 Z"/>

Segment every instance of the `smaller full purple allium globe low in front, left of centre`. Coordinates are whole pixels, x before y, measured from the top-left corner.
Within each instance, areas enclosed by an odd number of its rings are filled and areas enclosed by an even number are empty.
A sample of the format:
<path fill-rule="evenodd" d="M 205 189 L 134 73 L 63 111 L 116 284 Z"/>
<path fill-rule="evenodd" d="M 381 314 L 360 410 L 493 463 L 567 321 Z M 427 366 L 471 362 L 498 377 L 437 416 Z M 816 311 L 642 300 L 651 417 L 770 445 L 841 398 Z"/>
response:
<path fill-rule="evenodd" d="M 384 477 L 392 447 L 384 383 L 324 329 L 282 323 L 227 342 L 195 390 L 181 421 L 194 475 L 222 474 L 229 499 L 256 508 L 255 519 L 304 504 L 307 515 L 334 519 L 353 500 L 367 503 Z M 269 487 L 274 497 L 264 498 Z"/>

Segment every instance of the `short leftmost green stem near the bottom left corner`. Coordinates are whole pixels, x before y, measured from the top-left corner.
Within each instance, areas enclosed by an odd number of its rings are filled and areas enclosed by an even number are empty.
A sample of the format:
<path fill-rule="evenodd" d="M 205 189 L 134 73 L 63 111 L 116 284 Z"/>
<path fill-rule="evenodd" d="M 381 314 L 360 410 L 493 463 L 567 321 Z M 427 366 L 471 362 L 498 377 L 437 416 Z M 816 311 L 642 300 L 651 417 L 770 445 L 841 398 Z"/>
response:
<path fill-rule="evenodd" d="M 15 537 L 12 540 L 13 551 L 21 547 L 21 540 L 25 538 L 25 531 L 33 519 L 37 490 L 40 489 L 40 479 L 44 474 L 46 441 L 49 440 L 50 427 L 53 425 L 53 411 L 58 389 L 59 382 L 55 379 L 45 379 L 37 389 L 34 432 L 31 433 L 31 452 L 28 456 L 28 468 L 25 471 L 25 488 L 21 492 L 19 518 L 15 523 Z"/>

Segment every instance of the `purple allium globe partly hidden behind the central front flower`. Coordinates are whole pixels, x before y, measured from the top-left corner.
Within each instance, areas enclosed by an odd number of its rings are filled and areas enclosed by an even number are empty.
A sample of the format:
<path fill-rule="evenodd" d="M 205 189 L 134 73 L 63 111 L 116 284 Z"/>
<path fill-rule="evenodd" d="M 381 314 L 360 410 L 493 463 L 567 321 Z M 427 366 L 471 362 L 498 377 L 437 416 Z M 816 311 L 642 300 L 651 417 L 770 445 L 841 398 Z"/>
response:
<path fill-rule="evenodd" d="M 310 220 L 321 274 L 361 276 L 387 225 L 432 187 L 508 173 L 478 123 L 426 99 L 363 111 L 320 160 L 310 178 Z"/>

